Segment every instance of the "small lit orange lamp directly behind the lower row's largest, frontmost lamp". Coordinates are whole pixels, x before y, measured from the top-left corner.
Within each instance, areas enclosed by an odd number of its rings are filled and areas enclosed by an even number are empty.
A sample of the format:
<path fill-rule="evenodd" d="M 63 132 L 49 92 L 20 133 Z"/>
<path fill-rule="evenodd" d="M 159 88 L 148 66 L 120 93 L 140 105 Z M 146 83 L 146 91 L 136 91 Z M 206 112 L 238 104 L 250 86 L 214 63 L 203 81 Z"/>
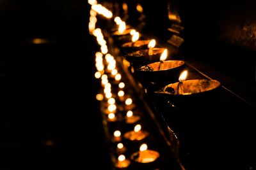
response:
<path fill-rule="evenodd" d="M 124 138 L 130 141 L 141 141 L 148 136 L 148 132 L 141 131 L 141 125 L 135 125 L 134 131 L 129 131 L 124 134 Z"/>

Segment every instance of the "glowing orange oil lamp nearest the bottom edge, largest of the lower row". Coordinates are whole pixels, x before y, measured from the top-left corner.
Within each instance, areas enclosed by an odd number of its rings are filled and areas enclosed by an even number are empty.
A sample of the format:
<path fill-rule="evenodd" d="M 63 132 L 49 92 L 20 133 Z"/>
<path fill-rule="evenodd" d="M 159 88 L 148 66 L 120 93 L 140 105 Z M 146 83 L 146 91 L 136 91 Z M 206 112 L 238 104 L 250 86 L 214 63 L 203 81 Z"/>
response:
<path fill-rule="evenodd" d="M 132 153 L 131 155 L 131 160 L 141 168 L 146 168 L 148 166 L 153 168 L 152 166 L 154 166 L 154 163 L 156 163 L 160 157 L 159 152 L 148 150 L 147 148 L 147 144 L 144 143 L 140 146 L 140 151 Z"/>

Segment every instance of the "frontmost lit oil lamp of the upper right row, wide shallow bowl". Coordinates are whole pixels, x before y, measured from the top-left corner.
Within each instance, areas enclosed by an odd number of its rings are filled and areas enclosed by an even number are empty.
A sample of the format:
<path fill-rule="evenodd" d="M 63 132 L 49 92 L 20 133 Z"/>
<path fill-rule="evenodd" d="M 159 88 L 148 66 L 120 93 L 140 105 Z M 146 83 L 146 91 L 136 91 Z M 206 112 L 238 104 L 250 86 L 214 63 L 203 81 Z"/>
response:
<path fill-rule="evenodd" d="M 180 74 L 179 82 L 171 83 L 163 87 L 163 89 L 156 91 L 156 94 L 164 94 L 172 99 L 184 101 L 184 99 L 192 97 L 202 97 L 207 100 L 208 94 L 216 94 L 216 89 L 220 87 L 221 83 L 217 80 L 196 79 L 186 80 L 188 71 L 183 71 Z M 185 102 L 185 101 L 184 101 Z"/>

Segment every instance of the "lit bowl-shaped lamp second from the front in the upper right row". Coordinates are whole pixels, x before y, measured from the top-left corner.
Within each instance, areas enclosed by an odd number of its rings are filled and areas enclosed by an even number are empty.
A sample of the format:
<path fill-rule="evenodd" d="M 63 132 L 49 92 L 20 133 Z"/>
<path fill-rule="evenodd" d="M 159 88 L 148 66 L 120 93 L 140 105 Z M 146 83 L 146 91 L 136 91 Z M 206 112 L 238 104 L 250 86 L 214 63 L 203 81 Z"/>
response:
<path fill-rule="evenodd" d="M 182 69 L 185 67 L 183 60 L 166 60 L 167 49 L 161 54 L 159 62 L 153 62 L 137 69 L 136 75 L 142 84 L 147 82 L 172 83 L 178 79 Z"/>

